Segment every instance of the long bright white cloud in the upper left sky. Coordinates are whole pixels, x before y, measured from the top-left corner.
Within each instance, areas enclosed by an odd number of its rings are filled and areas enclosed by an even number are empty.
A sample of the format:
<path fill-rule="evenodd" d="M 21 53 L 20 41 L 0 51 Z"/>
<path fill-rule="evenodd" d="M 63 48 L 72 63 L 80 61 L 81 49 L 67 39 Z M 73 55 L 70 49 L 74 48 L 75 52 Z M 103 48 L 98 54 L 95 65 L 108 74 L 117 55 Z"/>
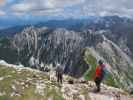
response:
<path fill-rule="evenodd" d="M 64 9 L 83 3 L 85 0 L 24 0 L 12 5 L 14 14 L 60 15 Z"/>

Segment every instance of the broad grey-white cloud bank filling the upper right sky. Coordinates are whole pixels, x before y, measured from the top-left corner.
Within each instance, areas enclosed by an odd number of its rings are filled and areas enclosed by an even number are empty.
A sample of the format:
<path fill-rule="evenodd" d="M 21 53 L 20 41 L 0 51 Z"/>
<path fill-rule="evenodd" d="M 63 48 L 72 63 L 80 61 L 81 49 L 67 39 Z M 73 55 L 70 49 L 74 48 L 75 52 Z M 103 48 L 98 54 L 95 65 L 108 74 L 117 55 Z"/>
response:
<path fill-rule="evenodd" d="M 132 0 L 86 0 L 86 2 L 81 5 L 81 8 L 83 9 L 84 15 L 119 15 L 133 17 Z"/>

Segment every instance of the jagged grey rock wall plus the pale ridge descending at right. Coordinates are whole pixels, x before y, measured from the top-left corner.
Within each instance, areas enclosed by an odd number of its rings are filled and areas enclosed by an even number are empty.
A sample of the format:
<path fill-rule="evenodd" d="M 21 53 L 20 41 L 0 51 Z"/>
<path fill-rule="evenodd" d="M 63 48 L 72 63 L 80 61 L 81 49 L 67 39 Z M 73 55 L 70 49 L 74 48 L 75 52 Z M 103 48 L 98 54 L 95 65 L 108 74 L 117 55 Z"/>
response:
<path fill-rule="evenodd" d="M 15 63 L 42 71 L 49 71 L 48 65 L 55 67 L 59 63 L 65 73 L 75 77 L 83 76 L 88 69 L 90 73 L 94 72 L 91 69 L 95 69 L 97 60 L 103 59 L 114 83 L 127 89 L 133 84 L 133 59 L 123 49 L 127 46 L 119 46 L 106 34 L 92 30 L 75 32 L 62 28 L 27 27 L 13 37 L 6 50 L 15 51 Z M 121 44 L 124 41 L 121 39 Z M 87 50 L 90 52 L 86 55 Z"/>

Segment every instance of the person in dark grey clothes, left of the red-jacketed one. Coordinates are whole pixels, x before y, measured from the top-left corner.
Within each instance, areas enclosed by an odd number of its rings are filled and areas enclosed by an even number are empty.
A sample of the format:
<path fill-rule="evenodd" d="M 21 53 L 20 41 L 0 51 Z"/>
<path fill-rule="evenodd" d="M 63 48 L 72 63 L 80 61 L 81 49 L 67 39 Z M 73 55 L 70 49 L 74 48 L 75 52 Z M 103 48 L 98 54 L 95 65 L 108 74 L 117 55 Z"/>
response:
<path fill-rule="evenodd" d="M 58 64 L 56 68 L 57 82 L 62 84 L 63 80 L 63 68 Z"/>

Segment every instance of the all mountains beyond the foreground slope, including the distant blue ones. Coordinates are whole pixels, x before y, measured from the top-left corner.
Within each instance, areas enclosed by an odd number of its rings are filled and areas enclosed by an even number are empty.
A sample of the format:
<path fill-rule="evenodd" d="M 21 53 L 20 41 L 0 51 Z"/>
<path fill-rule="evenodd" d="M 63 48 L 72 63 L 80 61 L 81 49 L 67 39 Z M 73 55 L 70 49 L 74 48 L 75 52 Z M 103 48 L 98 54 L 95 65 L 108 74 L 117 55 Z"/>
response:
<path fill-rule="evenodd" d="M 44 71 L 61 64 L 64 72 L 92 80 L 97 60 L 109 71 L 108 85 L 133 86 L 133 20 L 118 16 L 92 20 L 51 20 L 0 30 L 0 59 Z"/>

